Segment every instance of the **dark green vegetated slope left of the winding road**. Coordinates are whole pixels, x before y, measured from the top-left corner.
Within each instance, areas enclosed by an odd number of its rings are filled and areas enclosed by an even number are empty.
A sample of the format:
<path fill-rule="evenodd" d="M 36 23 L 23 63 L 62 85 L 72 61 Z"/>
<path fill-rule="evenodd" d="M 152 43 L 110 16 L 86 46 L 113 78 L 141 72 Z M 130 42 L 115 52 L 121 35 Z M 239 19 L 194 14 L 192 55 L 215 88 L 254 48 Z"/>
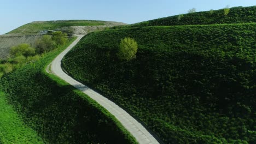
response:
<path fill-rule="evenodd" d="M 69 44 L 2 77 L 0 89 L 9 104 L 44 143 L 137 143 L 102 106 L 45 72 Z"/>

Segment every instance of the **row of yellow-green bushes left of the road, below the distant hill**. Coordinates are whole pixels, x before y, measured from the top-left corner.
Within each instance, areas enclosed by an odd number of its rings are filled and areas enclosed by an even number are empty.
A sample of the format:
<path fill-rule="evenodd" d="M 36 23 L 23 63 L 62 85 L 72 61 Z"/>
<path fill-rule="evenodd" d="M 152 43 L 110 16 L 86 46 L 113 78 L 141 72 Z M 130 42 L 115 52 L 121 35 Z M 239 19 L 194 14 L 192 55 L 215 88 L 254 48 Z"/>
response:
<path fill-rule="evenodd" d="M 29 44 L 19 44 L 11 47 L 8 61 L 0 61 L 0 77 L 26 63 L 37 61 L 40 58 L 39 55 L 65 45 L 67 40 L 66 33 L 57 31 L 53 33 L 52 37 L 51 35 L 43 35 L 43 37 L 38 38 L 35 44 L 36 49 Z"/>

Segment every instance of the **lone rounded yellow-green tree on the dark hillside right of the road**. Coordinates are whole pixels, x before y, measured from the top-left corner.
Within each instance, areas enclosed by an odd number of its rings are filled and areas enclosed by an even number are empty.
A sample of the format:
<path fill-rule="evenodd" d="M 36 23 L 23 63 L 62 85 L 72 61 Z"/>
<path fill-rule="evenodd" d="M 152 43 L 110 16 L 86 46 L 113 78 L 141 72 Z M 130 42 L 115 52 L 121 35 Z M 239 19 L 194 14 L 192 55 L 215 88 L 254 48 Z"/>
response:
<path fill-rule="evenodd" d="M 138 44 L 134 39 L 132 38 L 121 39 L 117 56 L 121 60 L 130 61 L 131 59 L 136 58 L 137 49 L 138 49 Z"/>

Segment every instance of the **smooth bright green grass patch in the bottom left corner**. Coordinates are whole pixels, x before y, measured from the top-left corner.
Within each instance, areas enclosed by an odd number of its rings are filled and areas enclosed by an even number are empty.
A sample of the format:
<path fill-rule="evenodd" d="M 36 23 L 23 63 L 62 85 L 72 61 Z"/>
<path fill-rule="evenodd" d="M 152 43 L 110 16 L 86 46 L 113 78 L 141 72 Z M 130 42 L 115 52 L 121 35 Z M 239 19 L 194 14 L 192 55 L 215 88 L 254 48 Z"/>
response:
<path fill-rule="evenodd" d="M 7 103 L 3 92 L 0 92 L 0 122 L 0 143 L 43 143 Z"/>

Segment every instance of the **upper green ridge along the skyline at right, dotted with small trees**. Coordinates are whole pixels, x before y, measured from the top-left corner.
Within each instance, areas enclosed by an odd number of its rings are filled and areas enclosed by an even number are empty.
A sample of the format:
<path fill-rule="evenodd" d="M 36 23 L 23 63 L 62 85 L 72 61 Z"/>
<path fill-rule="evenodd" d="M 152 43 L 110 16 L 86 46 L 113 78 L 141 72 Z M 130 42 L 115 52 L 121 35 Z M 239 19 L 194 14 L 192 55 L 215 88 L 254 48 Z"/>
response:
<path fill-rule="evenodd" d="M 227 15 L 224 9 L 200 11 L 190 14 L 180 14 L 160 19 L 135 23 L 125 27 L 141 26 L 177 26 L 177 25 L 211 25 L 221 23 L 250 23 L 256 22 L 256 6 L 230 8 Z"/>

